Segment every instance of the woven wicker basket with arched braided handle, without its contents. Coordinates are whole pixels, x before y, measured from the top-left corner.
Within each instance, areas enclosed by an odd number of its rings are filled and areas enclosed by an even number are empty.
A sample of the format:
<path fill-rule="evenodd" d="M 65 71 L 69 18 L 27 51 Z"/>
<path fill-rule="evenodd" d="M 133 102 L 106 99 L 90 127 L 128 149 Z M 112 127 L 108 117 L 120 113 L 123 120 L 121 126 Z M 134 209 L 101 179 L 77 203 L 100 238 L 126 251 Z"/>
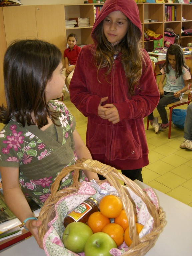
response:
<path fill-rule="evenodd" d="M 156 207 L 151 202 L 151 200 L 149 199 L 149 197 L 132 180 L 122 175 L 115 168 L 90 159 L 78 160 L 78 162 L 75 165 L 64 168 L 61 171 L 61 173 L 57 176 L 55 182 L 52 184 L 51 194 L 45 201 L 45 204 L 42 207 L 39 214 L 38 219 L 42 221 L 42 225 L 39 228 L 40 239 L 43 240 L 43 236 L 49 229 L 48 223 L 55 217 L 54 206 L 57 203 L 57 201 L 61 199 L 61 197 L 65 197 L 68 194 L 76 193 L 78 191 L 79 186 L 81 185 L 81 183 L 78 182 L 79 170 L 81 169 L 89 170 L 103 175 L 121 195 L 123 206 L 125 208 L 125 212 L 129 220 L 129 234 L 133 241 L 131 246 L 129 247 L 129 250 L 124 252 L 122 255 L 145 255 L 149 251 L 149 249 L 154 246 L 159 234 L 161 233 L 163 227 L 165 226 L 166 222 L 164 219 L 164 212 L 160 207 L 157 210 Z M 66 189 L 57 191 L 59 183 L 62 180 L 62 178 L 65 177 L 71 171 L 74 171 L 73 184 Z M 123 181 L 137 196 L 139 196 L 142 199 L 142 201 L 146 204 L 150 215 L 154 219 L 152 231 L 149 234 L 143 236 L 142 238 L 138 238 L 136 232 L 133 204 L 129 199 L 127 189 L 125 189 L 124 186 L 121 185 L 119 180 Z"/>

